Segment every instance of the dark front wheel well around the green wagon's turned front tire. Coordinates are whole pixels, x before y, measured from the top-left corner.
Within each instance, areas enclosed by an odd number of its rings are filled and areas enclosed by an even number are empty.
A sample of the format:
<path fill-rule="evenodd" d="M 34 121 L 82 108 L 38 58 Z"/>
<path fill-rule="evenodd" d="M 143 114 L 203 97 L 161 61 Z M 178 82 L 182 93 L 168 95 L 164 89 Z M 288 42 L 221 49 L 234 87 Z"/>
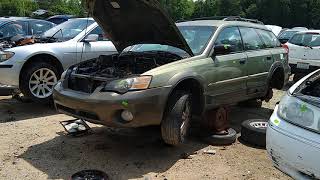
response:
<path fill-rule="evenodd" d="M 176 91 L 185 91 L 190 93 L 192 96 L 192 113 L 196 115 L 202 114 L 204 110 L 204 95 L 203 87 L 198 80 L 189 78 L 179 82 L 168 96 L 167 105 Z"/>

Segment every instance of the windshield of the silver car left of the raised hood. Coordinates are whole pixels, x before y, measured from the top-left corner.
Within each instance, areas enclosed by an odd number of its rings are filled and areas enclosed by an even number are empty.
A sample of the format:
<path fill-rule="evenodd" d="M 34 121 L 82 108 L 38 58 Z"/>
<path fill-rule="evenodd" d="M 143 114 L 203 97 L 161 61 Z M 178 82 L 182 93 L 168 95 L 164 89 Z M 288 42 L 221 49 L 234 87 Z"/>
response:
<path fill-rule="evenodd" d="M 76 37 L 87 26 L 93 24 L 90 19 L 71 19 L 44 32 L 41 37 L 52 38 L 57 41 L 67 41 Z"/>

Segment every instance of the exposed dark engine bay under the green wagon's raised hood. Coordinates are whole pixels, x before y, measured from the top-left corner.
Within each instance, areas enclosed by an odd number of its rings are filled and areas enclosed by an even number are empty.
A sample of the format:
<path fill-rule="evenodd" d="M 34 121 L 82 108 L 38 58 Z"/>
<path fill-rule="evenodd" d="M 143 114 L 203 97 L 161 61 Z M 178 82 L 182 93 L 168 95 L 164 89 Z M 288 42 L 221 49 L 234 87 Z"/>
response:
<path fill-rule="evenodd" d="M 100 56 L 81 63 L 75 73 L 90 77 L 125 78 L 139 75 L 156 67 L 182 59 L 168 52 L 129 52 L 122 55 Z"/>

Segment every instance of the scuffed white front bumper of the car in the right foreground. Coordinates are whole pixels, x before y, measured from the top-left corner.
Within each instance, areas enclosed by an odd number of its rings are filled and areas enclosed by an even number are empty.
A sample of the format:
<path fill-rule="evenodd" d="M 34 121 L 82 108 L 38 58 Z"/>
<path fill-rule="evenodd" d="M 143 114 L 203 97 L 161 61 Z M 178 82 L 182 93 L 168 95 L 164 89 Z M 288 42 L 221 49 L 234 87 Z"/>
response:
<path fill-rule="evenodd" d="M 320 134 L 282 120 L 277 107 L 267 129 L 267 151 L 274 165 L 294 179 L 320 178 Z"/>

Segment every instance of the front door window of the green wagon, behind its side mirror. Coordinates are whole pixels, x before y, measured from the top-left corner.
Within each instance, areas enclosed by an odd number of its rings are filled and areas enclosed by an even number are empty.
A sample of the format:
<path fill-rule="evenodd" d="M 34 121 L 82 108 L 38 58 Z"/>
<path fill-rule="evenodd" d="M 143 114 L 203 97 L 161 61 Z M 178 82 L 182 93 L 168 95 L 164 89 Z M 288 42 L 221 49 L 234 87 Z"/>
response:
<path fill-rule="evenodd" d="M 243 51 L 243 44 L 238 27 L 229 27 L 222 30 L 215 45 L 230 45 L 232 52 Z"/>

